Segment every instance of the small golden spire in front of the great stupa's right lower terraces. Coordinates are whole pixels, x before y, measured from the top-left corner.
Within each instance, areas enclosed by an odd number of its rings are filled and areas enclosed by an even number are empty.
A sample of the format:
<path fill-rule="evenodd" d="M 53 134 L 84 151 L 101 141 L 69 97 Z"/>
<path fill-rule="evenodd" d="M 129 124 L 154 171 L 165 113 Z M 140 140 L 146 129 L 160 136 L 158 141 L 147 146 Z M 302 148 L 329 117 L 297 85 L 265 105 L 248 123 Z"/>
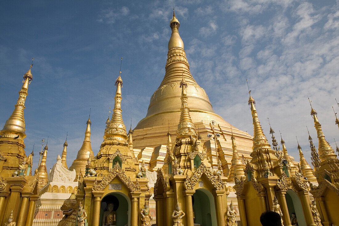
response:
<path fill-rule="evenodd" d="M 239 153 L 237 151 L 237 145 L 235 144 L 235 137 L 233 136 L 233 130 L 231 126 L 231 140 L 232 140 L 232 149 L 233 149 L 233 155 L 231 160 L 231 167 L 230 167 L 230 173 L 228 173 L 227 182 L 233 182 L 234 178 L 240 178 L 244 175 L 244 168 L 245 165 L 242 162 L 242 159 L 239 157 Z"/>

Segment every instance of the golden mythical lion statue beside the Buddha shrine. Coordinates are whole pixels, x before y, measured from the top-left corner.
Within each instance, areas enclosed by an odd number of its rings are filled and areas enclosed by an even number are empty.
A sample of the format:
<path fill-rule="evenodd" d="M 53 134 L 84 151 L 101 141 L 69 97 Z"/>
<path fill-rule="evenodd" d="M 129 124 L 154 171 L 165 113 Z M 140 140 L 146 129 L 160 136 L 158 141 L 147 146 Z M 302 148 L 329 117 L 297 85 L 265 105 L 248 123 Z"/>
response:
<path fill-rule="evenodd" d="M 76 226 L 78 203 L 74 193 L 64 201 L 61 206 L 64 217 L 58 223 L 58 226 Z"/>

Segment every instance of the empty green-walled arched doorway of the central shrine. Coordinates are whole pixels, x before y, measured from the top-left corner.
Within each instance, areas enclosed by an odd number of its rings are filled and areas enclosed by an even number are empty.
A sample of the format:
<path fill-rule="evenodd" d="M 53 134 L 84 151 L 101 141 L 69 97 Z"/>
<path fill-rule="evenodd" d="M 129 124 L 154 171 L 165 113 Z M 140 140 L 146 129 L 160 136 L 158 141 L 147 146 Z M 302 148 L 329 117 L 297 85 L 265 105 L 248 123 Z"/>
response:
<path fill-rule="evenodd" d="M 202 188 L 195 190 L 192 204 L 195 226 L 217 226 L 214 197 L 210 191 Z"/>

